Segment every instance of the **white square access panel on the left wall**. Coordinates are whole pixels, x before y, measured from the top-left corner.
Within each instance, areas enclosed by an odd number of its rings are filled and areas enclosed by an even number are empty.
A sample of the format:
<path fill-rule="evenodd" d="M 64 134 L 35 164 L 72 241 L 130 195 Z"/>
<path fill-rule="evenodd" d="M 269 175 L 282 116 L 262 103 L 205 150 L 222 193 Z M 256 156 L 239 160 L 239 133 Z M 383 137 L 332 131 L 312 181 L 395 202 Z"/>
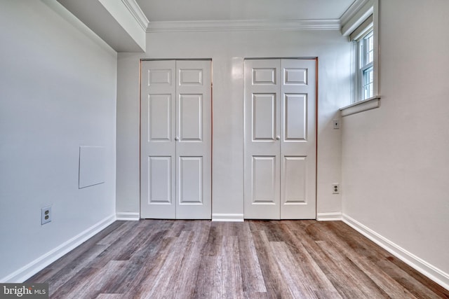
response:
<path fill-rule="evenodd" d="M 80 146 L 78 188 L 105 183 L 105 167 L 105 147 Z"/>

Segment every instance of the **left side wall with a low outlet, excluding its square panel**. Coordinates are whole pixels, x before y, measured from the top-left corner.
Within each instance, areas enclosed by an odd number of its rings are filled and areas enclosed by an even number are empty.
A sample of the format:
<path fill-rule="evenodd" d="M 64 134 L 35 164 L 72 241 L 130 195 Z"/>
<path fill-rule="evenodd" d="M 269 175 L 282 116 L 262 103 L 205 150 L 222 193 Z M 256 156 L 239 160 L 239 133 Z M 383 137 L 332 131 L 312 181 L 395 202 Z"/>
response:
<path fill-rule="evenodd" d="M 116 53 L 54 1 L 2 1 L 0 28 L 3 282 L 114 217 Z M 78 188 L 79 146 L 105 147 L 105 183 Z"/>

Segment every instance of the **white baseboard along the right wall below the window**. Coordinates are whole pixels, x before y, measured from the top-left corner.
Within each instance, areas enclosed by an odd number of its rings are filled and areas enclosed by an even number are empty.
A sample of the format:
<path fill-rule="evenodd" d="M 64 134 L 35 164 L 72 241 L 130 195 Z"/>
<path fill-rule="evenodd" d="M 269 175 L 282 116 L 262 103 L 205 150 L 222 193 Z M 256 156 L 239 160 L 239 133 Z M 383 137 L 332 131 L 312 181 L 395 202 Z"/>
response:
<path fill-rule="evenodd" d="M 354 230 L 360 232 L 362 235 L 364 235 L 371 241 L 375 242 L 375 244 L 387 250 L 392 255 L 396 256 L 396 258 L 402 260 L 410 267 L 413 267 L 415 270 L 429 277 L 429 279 L 443 286 L 443 288 L 449 290 L 448 273 L 445 273 L 442 270 L 438 269 L 437 267 L 434 267 L 434 265 L 427 263 L 425 260 L 422 260 L 422 258 L 419 258 L 415 256 L 413 253 L 406 251 L 406 249 L 401 248 L 401 246 L 398 246 L 394 242 L 391 242 L 389 239 L 382 237 L 382 235 L 379 235 L 374 230 L 371 230 L 362 223 L 359 223 L 355 219 L 344 214 L 343 214 L 343 222 L 351 226 L 351 228 L 354 228 Z"/>

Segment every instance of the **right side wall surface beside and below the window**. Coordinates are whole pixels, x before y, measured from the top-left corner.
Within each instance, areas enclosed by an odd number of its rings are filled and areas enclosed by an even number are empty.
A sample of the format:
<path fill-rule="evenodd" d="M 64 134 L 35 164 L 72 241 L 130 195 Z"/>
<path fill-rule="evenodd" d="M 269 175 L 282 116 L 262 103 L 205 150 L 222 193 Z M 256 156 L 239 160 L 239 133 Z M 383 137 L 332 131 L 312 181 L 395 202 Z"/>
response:
<path fill-rule="evenodd" d="M 343 119 L 342 190 L 344 214 L 449 278 L 448 13 L 381 1 L 382 104 Z"/>

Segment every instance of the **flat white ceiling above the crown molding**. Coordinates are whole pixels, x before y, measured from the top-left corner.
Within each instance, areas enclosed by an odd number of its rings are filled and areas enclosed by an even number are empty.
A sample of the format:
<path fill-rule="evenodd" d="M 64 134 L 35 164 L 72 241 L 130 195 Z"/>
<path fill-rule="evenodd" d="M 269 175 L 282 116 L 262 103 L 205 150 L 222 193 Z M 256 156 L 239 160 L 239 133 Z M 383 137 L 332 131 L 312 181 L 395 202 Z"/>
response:
<path fill-rule="evenodd" d="M 136 0 L 150 22 L 339 19 L 354 0 Z"/>

